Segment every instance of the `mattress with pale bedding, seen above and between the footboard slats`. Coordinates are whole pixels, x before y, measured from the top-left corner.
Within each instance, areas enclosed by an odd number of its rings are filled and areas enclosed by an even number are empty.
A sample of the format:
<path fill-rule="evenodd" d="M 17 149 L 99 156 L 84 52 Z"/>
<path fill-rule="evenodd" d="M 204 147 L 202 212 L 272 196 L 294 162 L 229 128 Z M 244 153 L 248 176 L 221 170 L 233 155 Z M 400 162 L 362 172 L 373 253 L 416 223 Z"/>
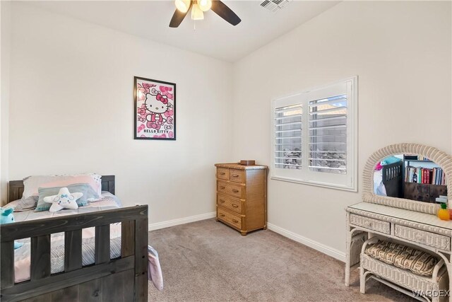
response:
<path fill-rule="evenodd" d="M 8 204 L 13 207 L 14 202 Z M 90 202 L 86 207 L 78 209 L 64 209 L 54 213 L 49 211 L 35 212 L 33 210 L 15 212 L 16 221 L 30 221 L 35 219 L 47 219 L 73 214 L 90 213 L 93 211 L 105 211 L 121 207 L 119 199 L 109 192 L 102 192 L 102 199 Z M 16 240 L 24 245 L 14 250 L 14 280 L 21 282 L 30 279 L 30 238 Z M 52 274 L 64 271 L 64 233 L 54 233 L 50 243 L 50 271 Z M 92 265 L 95 261 L 95 228 L 83 228 L 82 231 L 82 264 Z M 110 224 L 110 259 L 121 256 L 121 223 Z"/>

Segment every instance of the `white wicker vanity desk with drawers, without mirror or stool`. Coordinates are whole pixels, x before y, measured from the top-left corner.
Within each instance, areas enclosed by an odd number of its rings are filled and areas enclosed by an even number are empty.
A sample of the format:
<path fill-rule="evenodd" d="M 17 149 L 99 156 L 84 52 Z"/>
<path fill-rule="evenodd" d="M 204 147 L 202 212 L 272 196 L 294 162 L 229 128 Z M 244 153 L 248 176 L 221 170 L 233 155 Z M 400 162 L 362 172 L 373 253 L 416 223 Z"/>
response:
<path fill-rule="evenodd" d="M 432 214 L 360 202 L 346 208 L 347 250 L 345 286 L 350 284 L 350 268 L 359 264 L 362 243 L 375 235 L 417 245 L 439 255 L 449 275 L 452 289 L 452 221 L 441 221 Z M 449 297 L 452 302 L 452 296 Z"/>

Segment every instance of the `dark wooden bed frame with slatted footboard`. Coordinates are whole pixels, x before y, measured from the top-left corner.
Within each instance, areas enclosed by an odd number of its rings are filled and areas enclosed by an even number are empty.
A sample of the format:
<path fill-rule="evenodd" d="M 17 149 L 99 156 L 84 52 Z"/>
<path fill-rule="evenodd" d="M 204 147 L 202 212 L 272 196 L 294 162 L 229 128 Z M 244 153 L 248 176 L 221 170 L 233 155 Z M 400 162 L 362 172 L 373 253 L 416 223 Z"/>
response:
<path fill-rule="evenodd" d="M 102 176 L 114 194 L 114 176 Z M 9 183 L 8 200 L 23 182 Z M 121 257 L 110 260 L 110 223 L 121 222 Z M 82 266 L 82 229 L 95 227 L 95 264 Z M 50 235 L 64 232 L 64 272 L 50 273 Z M 1 301 L 148 301 L 148 206 L 4 224 Z M 14 283 L 14 240 L 31 238 L 30 280 Z"/>

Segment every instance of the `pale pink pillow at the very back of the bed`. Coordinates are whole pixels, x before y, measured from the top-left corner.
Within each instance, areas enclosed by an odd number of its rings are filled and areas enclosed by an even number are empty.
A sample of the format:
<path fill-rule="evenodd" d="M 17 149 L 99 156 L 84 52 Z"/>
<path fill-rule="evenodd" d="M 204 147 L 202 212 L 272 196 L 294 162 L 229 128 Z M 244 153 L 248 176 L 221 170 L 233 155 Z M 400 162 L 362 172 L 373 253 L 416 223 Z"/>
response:
<path fill-rule="evenodd" d="M 78 175 L 38 175 L 23 179 L 23 198 L 38 196 L 39 187 L 67 187 L 76 183 L 88 183 L 97 193 L 96 198 L 102 194 L 101 176 L 95 173 Z"/>

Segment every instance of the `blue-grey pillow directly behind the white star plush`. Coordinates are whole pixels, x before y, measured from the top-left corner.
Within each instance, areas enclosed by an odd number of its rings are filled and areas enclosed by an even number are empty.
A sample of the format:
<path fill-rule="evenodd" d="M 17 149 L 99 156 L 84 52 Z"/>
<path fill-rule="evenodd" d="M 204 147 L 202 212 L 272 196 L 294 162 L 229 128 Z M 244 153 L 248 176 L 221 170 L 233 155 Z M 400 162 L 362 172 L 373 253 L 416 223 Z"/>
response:
<path fill-rule="evenodd" d="M 77 199 L 77 204 L 79 207 L 87 206 L 88 199 L 95 199 L 97 196 L 97 192 L 93 190 L 90 185 L 85 183 L 78 183 L 74 185 L 67 186 L 70 193 L 81 192 L 83 196 Z M 35 211 L 48 211 L 50 209 L 51 204 L 44 202 L 44 197 L 52 196 L 58 194 L 61 187 L 40 187 L 38 189 L 40 197 L 37 200 L 37 206 Z"/>

